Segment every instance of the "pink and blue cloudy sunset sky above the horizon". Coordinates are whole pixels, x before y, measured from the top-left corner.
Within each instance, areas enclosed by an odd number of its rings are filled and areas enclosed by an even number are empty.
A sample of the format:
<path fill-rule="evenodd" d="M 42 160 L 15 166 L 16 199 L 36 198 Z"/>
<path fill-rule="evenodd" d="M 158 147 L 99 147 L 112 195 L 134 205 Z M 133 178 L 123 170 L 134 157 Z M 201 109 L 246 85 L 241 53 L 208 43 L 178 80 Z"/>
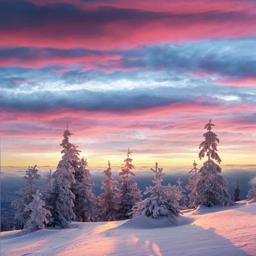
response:
<path fill-rule="evenodd" d="M 1 166 L 188 166 L 212 119 L 256 164 L 255 0 L 0 0 Z"/>

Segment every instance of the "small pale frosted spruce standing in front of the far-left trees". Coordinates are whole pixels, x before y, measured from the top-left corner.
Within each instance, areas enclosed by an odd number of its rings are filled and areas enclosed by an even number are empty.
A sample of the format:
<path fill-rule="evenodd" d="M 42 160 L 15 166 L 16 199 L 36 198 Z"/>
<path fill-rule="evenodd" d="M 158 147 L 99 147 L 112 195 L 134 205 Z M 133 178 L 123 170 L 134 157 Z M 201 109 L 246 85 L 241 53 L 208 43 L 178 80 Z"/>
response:
<path fill-rule="evenodd" d="M 40 199 L 40 195 L 42 194 L 37 189 L 35 195 L 33 195 L 33 201 L 29 205 L 25 205 L 25 211 L 31 211 L 29 220 L 25 225 L 27 234 L 44 229 L 44 223 L 48 223 L 45 216 L 51 216 L 51 213 L 47 209 L 43 208 L 45 203 Z"/>

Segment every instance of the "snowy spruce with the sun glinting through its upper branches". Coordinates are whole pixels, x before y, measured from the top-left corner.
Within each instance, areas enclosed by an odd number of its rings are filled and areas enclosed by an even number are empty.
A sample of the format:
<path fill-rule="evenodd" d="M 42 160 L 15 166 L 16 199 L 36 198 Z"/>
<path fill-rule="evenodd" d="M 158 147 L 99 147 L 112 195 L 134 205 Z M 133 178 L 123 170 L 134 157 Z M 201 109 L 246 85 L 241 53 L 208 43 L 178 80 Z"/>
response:
<path fill-rule="evenodd" d="M 119 172 L 119 177 L 121 179 L 118 181 L 121 186 L 118 191 L 118 202 L 119 202 L 119 220 L 125 220 L 131 218 L 128 214 L 131 212 L 131 208 L 138 202 L 141 201 L 142 195 L 140 189 L 137 188 L 137 183 L 131 180 L 128 175 L 136 177 L 136 175 L 131 172 L 134 166 L 131 164 L 132 159 L 129 155 L 132 153 L 128 148 L 127 158 L 122 164 L 121 172 Z"/>

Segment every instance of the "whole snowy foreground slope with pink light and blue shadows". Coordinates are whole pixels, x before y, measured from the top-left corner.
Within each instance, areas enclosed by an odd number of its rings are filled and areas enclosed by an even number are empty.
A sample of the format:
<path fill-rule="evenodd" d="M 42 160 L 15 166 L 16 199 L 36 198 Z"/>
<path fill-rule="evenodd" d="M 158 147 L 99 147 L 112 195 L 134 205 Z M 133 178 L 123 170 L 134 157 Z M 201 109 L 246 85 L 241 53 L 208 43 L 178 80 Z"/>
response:
<path fill-rule="evenodd" d="M 256 256 L 256 204 L 185 210 L 180 225 L 138 216 L 68 230 L 1 233 L 2 256 Z"/>

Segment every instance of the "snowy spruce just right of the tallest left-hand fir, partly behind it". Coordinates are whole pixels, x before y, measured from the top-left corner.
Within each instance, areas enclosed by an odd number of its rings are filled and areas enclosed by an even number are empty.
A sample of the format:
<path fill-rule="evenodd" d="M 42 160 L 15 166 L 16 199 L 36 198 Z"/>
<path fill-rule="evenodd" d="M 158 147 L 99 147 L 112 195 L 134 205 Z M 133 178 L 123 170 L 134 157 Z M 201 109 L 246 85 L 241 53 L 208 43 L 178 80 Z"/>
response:
<path fill-rule="evenodd" d="M 79 163 L 79 169 L 76 171 L 76 187 L 74 193 L 76 194 L 75 206 L 73 208 L 76 213 L 77 221 L 90 222 L 93 221 L 97 215 L 97 210 L 100 209 L 99 201 L 93 193 L 93 181 L 90 177 L 90 171 L 84 157 Z"/>

